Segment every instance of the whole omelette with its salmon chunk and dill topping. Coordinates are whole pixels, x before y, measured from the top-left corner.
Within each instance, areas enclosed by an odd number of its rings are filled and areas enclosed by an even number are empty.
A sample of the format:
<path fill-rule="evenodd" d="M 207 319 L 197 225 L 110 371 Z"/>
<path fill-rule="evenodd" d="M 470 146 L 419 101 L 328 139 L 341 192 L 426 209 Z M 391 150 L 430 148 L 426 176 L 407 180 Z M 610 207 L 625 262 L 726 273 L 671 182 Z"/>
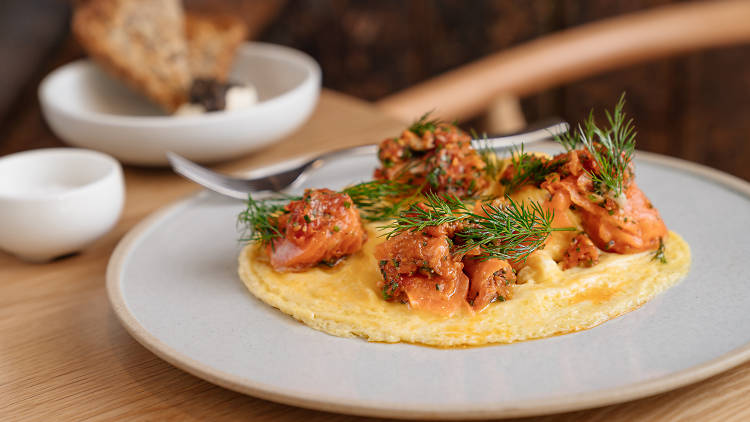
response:
<path fill-rule="evenodd" d="M 634 181 L 623 104 L 555 156 L 500 159 L 423 116 L 381 142 L 371 182 L 250 198 L 240 278 L 312 328 L 388 343 L 512 343 L 630 312 L 691 258 Z"/>

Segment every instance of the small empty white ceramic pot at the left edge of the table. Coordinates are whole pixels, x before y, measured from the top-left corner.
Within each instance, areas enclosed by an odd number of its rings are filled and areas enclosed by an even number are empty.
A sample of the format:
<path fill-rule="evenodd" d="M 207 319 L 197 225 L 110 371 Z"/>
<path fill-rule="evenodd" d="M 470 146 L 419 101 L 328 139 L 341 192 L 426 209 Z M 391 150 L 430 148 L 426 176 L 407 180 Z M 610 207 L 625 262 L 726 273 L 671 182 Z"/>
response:
<path fill-rule="evenodd" d="M 0 249 L 43 262 L 79 251 L 115 225 L 120 164 L 96 151 L 37 149 L 0 158 Z"/>

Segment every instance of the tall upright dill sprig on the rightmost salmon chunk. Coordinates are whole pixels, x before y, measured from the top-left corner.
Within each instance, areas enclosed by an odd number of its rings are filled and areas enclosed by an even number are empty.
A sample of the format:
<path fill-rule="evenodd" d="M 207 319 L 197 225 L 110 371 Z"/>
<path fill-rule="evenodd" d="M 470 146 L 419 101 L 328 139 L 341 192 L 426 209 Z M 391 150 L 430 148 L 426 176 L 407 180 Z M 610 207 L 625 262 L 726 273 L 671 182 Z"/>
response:
<path fill-rule="evenodd" d="M 593 110 L 578 130 L 555 138 L 566 151 L 581 143 L 596 162 L 596 171 L 588 171 L 597 193 L 609 193 L 613 199 L 621 198 L 625 191 L 625 176 L 635 151 L 635 126 L 623 111 L 625 93 L 612 113 L 605 110 L 608 128 L 600 128 L 594 120 Z"/>

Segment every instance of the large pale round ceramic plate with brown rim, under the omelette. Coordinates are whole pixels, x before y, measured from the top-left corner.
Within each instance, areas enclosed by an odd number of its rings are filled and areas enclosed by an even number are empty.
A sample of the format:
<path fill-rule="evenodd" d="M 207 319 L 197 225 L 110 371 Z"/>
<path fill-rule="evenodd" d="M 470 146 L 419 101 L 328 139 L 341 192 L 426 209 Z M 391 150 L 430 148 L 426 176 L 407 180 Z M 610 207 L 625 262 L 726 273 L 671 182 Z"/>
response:
<path fill-rule="evenodd" d="M 536 148 L 535 148 L 536 149 Z M 601 406 L 666 391 L 750 358 L 750 184 L 640 153 L 639 186 L 690 243 L 688 277 L 640 309 L 578 333 L 434 349 L 333 337 L 255 299 L 236 275 L 243 205 L 208 192 L 139 224 L 107 271 L 112 306 L 158 356 L 226 388 L 336 412 L 486 418 Z M 307 186 L 369 179 L 374 158 Z M 345 280 L 344 280 L 345 282 Z"/>

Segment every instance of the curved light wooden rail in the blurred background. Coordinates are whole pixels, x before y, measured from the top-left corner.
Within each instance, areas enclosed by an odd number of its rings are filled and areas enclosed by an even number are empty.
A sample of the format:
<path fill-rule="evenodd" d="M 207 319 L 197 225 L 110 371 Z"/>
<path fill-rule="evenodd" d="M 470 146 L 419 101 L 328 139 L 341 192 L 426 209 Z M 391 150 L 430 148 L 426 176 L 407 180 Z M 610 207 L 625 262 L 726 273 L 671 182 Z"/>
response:
<path fill-rule="evenodd" d="M 510 48 L 376 104 L 404 121 L 433 109 L 439 117 L 464 120 L 480 114 L 499 95 L 522 97 L 638 62 L 748 41 L 748 0 L 670 5 Z"/>

